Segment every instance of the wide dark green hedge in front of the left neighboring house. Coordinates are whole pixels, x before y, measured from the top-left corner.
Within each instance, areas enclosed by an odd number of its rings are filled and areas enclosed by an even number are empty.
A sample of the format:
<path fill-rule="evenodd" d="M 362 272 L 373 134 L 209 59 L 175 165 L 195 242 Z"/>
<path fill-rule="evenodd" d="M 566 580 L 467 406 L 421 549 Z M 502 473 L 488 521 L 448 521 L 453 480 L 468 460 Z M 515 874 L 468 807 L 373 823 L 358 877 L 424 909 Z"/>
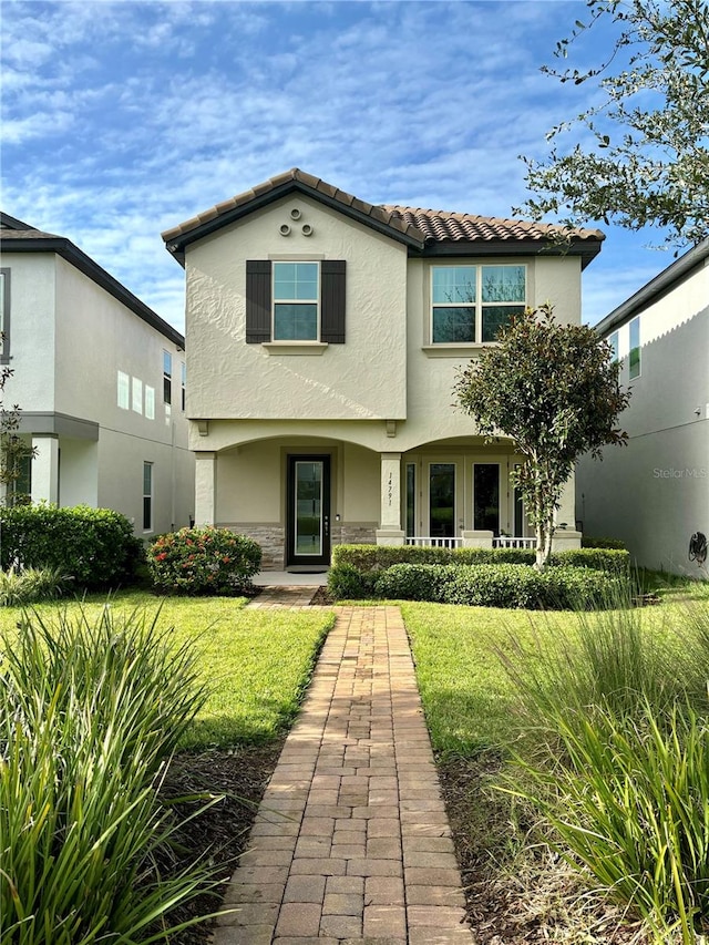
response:
<path fill-rule="evenodd" d="M 50 568 L 76 588 L 130 585 L 144 559 L 142 542 L 125 515 L 78 505 L 0 509 L 0 567 Z"/>

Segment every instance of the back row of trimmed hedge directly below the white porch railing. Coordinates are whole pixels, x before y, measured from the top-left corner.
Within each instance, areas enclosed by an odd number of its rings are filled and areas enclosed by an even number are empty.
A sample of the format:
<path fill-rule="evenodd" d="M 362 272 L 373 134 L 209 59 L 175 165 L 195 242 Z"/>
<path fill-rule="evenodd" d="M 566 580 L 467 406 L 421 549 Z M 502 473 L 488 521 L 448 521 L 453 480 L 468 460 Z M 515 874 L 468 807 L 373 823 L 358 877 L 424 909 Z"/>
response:
<path fill-rule="evenodd" d="M 367 574 L 389 568 L 395 564 L 534 564 L 531 548 L 429 548 L 418 545 L 336 545 L 332 565 L 351 565 Z M 553 567 L 587 567 L 609 574 L 626 576 L 630 569 L 630 555 L 616 548 L 578 548 L 554 552 Z"/>

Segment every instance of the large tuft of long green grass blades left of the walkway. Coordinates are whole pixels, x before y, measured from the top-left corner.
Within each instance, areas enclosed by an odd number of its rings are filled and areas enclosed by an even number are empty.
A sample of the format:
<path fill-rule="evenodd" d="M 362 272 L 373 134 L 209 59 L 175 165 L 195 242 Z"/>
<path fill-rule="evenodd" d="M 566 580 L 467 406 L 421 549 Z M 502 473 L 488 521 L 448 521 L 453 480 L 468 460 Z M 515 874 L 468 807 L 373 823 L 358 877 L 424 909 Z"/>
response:
<path fill-rule="evenodd" d="M 192 653 L 137 613 L 28 614 L 0 638 L 0 941 L 167 942 L 204 891 L 162 879 L 161 772 L 205 698 Z"/>

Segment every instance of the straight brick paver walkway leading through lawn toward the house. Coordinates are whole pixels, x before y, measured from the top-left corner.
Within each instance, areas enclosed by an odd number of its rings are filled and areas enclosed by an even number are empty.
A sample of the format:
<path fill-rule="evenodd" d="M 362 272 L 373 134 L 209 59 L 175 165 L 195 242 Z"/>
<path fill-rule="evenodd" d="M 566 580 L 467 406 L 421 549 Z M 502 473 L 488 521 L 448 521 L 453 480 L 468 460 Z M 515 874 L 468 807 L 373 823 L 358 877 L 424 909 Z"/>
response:
<path fill-rule="evenodd" d="M 338 608 L 215 945 L 472 945 L 397 607 Z"/>

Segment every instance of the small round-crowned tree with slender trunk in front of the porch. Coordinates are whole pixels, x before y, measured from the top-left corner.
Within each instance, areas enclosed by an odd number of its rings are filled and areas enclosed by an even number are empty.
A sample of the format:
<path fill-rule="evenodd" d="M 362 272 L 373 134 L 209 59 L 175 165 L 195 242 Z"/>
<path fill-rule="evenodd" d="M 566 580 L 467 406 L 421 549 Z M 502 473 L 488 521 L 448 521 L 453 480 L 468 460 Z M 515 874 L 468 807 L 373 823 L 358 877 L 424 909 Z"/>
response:
<path fill-rule="evenodd" d="M 551 305 L 527 309 L 461 370 L 454 393 L 489 442 L 510 436 L 526 462 L 511 473 L 536 533 L 536 564 L 552 553 L 554 514 L 583 453 L 621 444 L 629 400 L 610 346 L 585 325 L 559 325 Z"/>

